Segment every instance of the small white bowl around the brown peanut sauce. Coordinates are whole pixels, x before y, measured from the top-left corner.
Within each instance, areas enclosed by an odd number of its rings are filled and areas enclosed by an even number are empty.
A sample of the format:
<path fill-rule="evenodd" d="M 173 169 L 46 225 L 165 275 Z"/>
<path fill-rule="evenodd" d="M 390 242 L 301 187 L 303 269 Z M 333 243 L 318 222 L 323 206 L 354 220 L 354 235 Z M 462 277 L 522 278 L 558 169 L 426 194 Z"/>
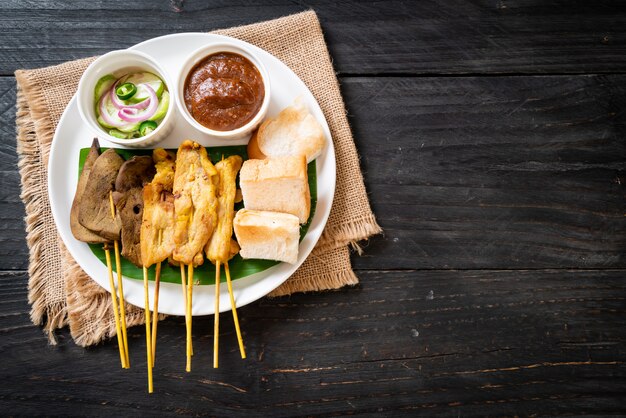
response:
<path fill-rule="evenodd" d="M 214 129 L 209 129 L 206 126 L 202 125 L 200 122 L 194 119 L 194 117 L 189 113 L 187 106 L 185 106 L 185 81 L 187 80 L 187 76 L 189 72 L 198 64 L 200 61 L 208 57 L 209 55 L 216 54 L 218 52 L 231 52 L 235 54 L 239 54 L 245 58 L 247 58 L 255 67 L 259 70 L 261 74 L 261 78 L 263 79 L 263 87 L 265 89 L 265 96 L 263 97 L 263 103 L 261 104 L 261 108 L 257 112 L 257 114 L 245 125 L 232 129 L 230 131 L 217 131 Z M 227 40 L 212 43 L 205 45 L 201 48 L 196 49 L 194 52 L 189 55 L 189 58 L 185 60 L 183 63 L 182 69 L 178 75 L 177 85 L 176 85 L 176 104 L 178 106 L 178 110 L 180 114 L 183 115 L 185 120 L 193 126 L 198 131 L 204 133 L 210 138 L 218 138 L 218 139 L 242 139 L 246 136 L 249 136 L 250 133 L 263 121 L 265 115 L 267 114 L 267 109 L 270 104 L 270 78 L 265 66 L 261 62 L 257 56 L 250 51 L 250 49 L 240 46 L 234 42 L 229 42 Z"/>

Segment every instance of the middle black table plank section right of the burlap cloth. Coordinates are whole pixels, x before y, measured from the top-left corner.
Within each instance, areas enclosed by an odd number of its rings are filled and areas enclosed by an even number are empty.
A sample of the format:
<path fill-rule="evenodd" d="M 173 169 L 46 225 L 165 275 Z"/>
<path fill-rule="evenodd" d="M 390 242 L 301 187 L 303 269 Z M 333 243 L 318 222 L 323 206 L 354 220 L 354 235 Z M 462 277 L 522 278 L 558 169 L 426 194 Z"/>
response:
<path fill-rule="evenodd" d="M 623 76 L 349 78 L 362 269 L 624 267 Z"/>

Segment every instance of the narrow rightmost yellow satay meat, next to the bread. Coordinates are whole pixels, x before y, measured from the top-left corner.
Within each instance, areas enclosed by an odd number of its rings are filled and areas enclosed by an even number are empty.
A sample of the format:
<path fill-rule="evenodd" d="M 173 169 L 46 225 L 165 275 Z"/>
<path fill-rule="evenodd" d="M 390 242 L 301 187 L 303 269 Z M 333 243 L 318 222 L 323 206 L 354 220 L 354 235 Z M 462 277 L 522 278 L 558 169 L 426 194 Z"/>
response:
<path fill-rule="evenodd" d="M 205 246 L 207 258 L 215 264 L 217 261 L 225 263 L 234 257 L 231 251 L 231 237 L 233 235 L 233 218 L 235 217 L 235 193 L 237 191 L 235 179 L 243 160 L 238 155 L 232 155 L 215 164 L 219 176 L 216 177 L 218 198 L 217 226 L 211 239 Z"/>

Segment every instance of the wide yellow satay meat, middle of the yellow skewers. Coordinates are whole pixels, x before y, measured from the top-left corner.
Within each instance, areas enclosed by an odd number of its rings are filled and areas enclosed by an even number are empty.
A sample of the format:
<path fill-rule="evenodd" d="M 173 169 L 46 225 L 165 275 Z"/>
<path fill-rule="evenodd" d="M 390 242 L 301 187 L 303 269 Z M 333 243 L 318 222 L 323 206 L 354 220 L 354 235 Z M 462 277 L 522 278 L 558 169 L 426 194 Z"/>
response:
<path fill-rule="evenodd" d="M 174 207 L 176 226 L 174 260 L 198 266 L 204 262 L 202 250 L 217 223 L 217 198 L 212 177 L 217 170 L 206 149 L 185 141 L 176 154 Z"/>

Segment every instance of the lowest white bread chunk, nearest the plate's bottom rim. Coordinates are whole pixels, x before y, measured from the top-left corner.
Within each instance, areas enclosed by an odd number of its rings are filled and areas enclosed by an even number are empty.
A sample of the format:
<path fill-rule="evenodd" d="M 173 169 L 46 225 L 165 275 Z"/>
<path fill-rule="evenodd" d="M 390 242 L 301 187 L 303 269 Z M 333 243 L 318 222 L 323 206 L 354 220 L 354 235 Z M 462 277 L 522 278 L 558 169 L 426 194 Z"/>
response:
<path fill-rule="evenodd" d="M 288 213 L 241 209 L 233 221 L 242 258 L 260 258 L 295 264 L 300 224 Z"/>

